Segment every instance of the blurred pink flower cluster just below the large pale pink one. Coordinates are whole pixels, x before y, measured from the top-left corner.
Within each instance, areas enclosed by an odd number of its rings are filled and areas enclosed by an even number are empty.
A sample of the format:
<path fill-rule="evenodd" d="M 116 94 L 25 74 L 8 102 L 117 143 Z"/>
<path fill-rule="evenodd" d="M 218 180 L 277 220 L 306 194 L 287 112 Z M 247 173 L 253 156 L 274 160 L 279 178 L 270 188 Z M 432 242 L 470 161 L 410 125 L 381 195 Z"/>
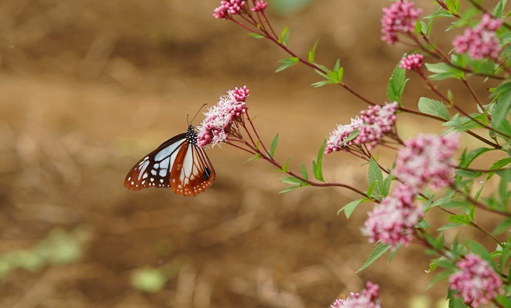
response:
<path fill-rule="evenodd" d="M 362 229 L 362 233 L 369 236 L 369 243 L 381 241 L 393 249 L 411 242 L 414 226 L 424 217 L 424 210 L 415 206 L 416 193 L 415 188 L 400 184 L 392 196 L 383 198 L 369 212 Z"/>

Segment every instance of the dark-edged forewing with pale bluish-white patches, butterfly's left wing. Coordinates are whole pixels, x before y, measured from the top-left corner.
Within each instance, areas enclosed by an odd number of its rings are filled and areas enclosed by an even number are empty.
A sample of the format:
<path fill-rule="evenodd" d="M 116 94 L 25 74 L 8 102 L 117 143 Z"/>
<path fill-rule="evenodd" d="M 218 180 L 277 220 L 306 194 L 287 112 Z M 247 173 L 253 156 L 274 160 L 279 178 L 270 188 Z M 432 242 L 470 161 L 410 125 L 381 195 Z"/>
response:
<path fill-rule="evenodd" d="M 180 149 L 187 146 L 186 133 L 165 141 L 131 168 L 124 186 L 131 191 L 140 191 L 146 187 L 170 187 L 172 166 Z"/>

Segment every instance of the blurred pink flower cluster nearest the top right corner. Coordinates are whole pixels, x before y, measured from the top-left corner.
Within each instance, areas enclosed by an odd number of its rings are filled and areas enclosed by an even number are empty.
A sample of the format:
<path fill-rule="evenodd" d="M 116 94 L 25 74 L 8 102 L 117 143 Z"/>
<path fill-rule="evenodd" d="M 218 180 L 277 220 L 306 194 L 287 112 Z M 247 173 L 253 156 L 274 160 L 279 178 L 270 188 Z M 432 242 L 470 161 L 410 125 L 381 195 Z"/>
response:
<path fill-rule="evenodd" d="M 468 53 L 474 60 L 486 57 L 497 59 L 501 48 L 495 31 L 502 25 L 502 20 L 484 14 L 475 28 L 466 29 L 452 42 L 459 54 Z"/>

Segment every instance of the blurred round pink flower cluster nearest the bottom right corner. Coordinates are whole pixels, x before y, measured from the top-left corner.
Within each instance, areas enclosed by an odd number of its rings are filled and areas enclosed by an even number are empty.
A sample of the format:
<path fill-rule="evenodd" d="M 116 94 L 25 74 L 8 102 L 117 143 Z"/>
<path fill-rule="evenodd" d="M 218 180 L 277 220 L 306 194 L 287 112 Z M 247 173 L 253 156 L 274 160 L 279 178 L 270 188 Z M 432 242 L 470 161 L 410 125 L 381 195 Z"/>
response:
<path fill-rule="evenodd" d="M 478 255 L 467 254 L 456 266 L 459 271 L 449 277 L 450 289 L 456 290 L 466 304 L 477 308 L 504 293 L 497 273 Z"/>

